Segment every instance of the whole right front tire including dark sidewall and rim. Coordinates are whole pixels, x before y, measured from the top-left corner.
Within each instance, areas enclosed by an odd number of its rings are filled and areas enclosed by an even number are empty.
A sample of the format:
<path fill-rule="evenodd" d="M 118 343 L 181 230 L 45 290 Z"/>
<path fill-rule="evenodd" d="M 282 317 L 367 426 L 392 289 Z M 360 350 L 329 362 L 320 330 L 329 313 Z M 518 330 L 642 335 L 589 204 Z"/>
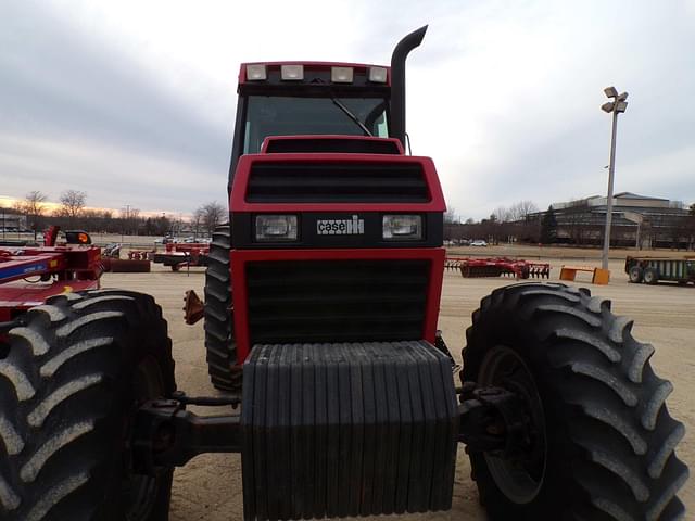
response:
<path fill-rule="evenodd" d="M 688 471 L 672 390 L 632 322 L 589 290 L 516 284 L 483 298 L 466 332 L 464 381 L 525 395 L 528 445 L 511 457 L 471 453 L 492 520 L 675 520 Z M 521 391 L 519 391 L 521 390 Z"/>

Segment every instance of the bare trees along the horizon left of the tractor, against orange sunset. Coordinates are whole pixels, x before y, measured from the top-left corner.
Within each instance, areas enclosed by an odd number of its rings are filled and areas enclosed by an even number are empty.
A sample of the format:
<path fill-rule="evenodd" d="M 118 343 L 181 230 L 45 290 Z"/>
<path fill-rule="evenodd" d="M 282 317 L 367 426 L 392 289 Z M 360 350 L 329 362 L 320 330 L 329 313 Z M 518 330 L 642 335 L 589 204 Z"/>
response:
<path fill-rule="evenodd" d="M 28 192 L 17 201 L 13 209 L 25 215 L 27 227 L 35 237 L 51 225 L 62 229 L 81 229 L 89 232 L 122 233 L 128 236 L 211 234 L 228 220 L 227 208 L 216 201 L 195 208 L 190 218 L 144 216 L 139 208 L 127 205 L 121 212 L 87 207 L 87 192 L 65 190 L 60 194 L 59 206 L 50 212 L 48 195 L 39 190 Z"/>

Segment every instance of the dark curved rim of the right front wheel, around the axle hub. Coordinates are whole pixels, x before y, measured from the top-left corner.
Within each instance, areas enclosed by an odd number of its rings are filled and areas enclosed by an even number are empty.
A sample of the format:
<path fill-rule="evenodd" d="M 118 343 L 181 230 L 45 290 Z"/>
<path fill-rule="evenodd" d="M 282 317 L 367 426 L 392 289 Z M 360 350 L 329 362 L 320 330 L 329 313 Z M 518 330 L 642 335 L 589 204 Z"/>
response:
<path fill-rule="evenodd" d="M 480 386 L 500 386 L 517 394 L 529 418 L 528 446 L 511 457 L 483 453 L 497 487 L 513 503 L 532 501 L 545 481 L 547 445 L 545 415 L 535 380 L 523 359 L 511 348 L 495 346 L 480 366 Z"/>

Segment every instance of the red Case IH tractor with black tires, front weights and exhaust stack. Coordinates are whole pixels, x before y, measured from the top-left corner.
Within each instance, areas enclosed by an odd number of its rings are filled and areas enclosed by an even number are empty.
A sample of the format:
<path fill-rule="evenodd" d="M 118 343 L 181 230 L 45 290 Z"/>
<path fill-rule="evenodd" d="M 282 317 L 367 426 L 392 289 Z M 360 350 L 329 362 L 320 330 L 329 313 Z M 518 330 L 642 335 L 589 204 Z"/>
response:
<path fill-rule="evenodd" d="M 432 161 L 403 150 L 424 35 L 391 67 L 242 65 L 205 283 L 224 392 L 176 391 L 148 295 L 66 293 L 1 326 L 0 518 L 166 519 L 173 469 L 211 452 L 241 453 L 248 520 L 445 510 L 462 443 L 491 519 L 683 519 L 671 384 L 608 301 L 501 288 L 454 373 L 444 201 Z"/>

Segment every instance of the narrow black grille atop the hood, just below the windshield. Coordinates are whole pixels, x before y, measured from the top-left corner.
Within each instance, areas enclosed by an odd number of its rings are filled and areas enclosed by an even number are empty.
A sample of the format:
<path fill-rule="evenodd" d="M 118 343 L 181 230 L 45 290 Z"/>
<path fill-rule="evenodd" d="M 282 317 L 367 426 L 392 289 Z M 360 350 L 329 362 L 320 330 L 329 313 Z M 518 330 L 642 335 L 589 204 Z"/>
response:
<path fill-rule="evenodd" d="M 346 138 L 270 139 L 266 153 L 400 154 L 395 141 Z"/>

